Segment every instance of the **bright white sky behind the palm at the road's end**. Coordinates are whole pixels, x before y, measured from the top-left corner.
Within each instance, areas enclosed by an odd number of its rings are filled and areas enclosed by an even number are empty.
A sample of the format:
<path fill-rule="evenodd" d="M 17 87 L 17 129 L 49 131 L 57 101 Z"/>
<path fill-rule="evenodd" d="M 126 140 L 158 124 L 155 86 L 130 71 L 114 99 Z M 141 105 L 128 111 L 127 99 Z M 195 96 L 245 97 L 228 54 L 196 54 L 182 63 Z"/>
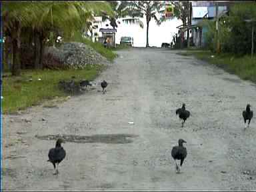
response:
<path fill-rule="evenodd" d="M 142 21 L 144 23 L 143 29 L 139 25 L 130 25 L 123 22 L 117 23 L 115 42 L 119 44 L 122 36 L 130 36 L 133 37 L 134 47 L 145 47 L 147 42 L 147 23 L 145 18 Z M 99 25 L 99 28 L 107 28 L 105 27 L 107 23 L 109 24 L 109 21 L 102 23 L 101 26 Z M 161 47 L 162 43 L 171 43 L 173 40 L 172 36 L 178 31 L 176 27 L 181 24 L 182 21 L 175 18 L 165 21 L 158 26 L 155 20 L 152 19 L 149 22 L 149 46 Z M 112 27 L 109 25 L 109 28 Z"/>

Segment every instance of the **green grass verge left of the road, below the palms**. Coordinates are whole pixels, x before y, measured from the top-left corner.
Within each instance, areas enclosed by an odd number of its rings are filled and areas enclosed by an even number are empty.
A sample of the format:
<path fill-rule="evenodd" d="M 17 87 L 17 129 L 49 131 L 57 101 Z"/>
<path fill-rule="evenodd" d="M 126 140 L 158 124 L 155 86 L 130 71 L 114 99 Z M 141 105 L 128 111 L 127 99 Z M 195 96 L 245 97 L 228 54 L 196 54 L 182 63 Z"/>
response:
<path fill-rule="evenodd" d="M 87 65 L 85 69 L 80 70 L 23 70 L 19 77 L 5 73 L 7 77 L 2 79 L 3 113 L 23 110 L 55 97 L 67 97 L 67 93 L 58 88 L 60 80 L 69 80 L 72 76 L 75 76 L 75 81 L 93 80 L 104 68 L 103 65 Z M 33 80 L 28 81 L 29 79 Z"/>

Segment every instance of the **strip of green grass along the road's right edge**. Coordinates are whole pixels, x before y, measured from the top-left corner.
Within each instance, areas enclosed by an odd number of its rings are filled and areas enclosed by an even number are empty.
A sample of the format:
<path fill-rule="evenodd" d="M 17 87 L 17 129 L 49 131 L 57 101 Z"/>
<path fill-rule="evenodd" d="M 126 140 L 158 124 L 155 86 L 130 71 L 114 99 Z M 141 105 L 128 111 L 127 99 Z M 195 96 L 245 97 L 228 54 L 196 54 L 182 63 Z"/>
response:
<path fill-rule="evenodd" d="M 241 79 L 256 83 L 256 58 L 251 59 L 251 55 L 245 55 L 243 57 L 236 57 L 236 55 L 228 53 L 215 55 L 211 51 L 186 51 L 178 54 L 184 56 L 193 55 L 197 59 L 207 61 L 223 68 L 229 73 L 238 75 Z"/>

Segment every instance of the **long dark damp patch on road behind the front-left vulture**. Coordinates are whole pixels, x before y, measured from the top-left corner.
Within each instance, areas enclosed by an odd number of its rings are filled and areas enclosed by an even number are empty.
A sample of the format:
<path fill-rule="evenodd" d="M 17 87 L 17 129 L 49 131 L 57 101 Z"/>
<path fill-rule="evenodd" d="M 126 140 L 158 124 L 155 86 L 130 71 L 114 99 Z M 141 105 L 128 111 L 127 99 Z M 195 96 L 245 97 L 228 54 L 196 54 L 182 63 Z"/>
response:
<path fill-rule="evenodd" d="M 64 139 L 65 142 L 73 143 L 107 143 L 107 144 L 126 144 L 132 143 L 131 138 L 138 137 L 133 134 L 99 134 L 91 136 L 80 135 L 35 135 L 37 139 L 43 140 L 57 140 L 58 138 Z"/>

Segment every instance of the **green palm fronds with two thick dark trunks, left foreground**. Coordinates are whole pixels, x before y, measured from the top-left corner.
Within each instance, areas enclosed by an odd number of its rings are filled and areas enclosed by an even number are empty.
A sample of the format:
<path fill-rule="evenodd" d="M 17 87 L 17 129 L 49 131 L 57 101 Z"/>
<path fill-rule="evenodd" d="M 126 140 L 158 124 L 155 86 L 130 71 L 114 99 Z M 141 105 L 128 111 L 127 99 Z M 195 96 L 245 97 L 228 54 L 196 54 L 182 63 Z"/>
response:
<path fill-rule="evenodd" d="M 3 1 L 5 36 L 11 38 L 12 74 L 19 75 L 21 69 L 21 29 L 31 27 L 35 36 L 35 68 L 42 69 L 45 41 L 55 29 L 72 34 L 79 30 L 92 13 L 102 10 L 112 14 L 111 7 L 105 1 Z M 89 14 L 88 14 L 89 13 Z"/>

